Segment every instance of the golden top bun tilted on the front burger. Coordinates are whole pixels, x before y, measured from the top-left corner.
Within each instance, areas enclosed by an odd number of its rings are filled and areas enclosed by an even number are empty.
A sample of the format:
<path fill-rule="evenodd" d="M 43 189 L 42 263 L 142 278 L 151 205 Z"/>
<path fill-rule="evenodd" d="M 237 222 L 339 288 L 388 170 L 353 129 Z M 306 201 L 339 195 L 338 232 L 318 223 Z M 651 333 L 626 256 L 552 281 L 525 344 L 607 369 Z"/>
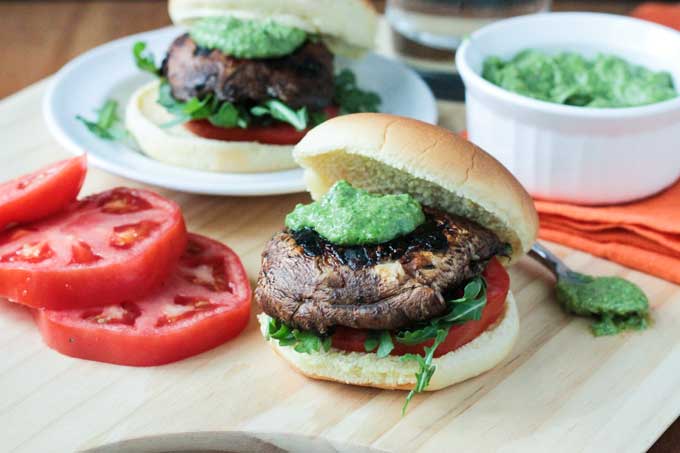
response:
<path fill-rule="evenodd" d="M 526 253 L 538 231 L 529 194 L 481 148 L 453 132 L 382 113 L 333 118 L 293 150 L 312 198 L 338 180 L 378 193 L 409 193 L 422 204 L 472 219 Z"/>

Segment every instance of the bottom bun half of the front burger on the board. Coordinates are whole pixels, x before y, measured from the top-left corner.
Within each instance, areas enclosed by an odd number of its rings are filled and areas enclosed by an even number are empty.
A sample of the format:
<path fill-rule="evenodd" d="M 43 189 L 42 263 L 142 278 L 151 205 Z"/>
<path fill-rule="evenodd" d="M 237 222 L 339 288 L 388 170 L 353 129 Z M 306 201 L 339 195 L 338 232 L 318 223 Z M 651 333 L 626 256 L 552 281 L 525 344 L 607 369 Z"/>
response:
<path fill-rule="evenodd" d="M 519 333 L 519 316 L 512 293 L 508 293 L 503 317 L 470 343 L 432 361 L 437 367 L 427 390 L 439 390 L 490 370 L 512 350 Z M 260 330 L 266 338 L 269 316 L 258 315 Z M 305 354 L 292 347 L 268 340 L 274 350 L 294 369 L 313 379 L 389 390 L 411 390 L 416 384 L 418 364 L 401 361 L 399 356 L 378 358 L 375 353 L 347 352 L 331 348 L 328 352 Z"/>

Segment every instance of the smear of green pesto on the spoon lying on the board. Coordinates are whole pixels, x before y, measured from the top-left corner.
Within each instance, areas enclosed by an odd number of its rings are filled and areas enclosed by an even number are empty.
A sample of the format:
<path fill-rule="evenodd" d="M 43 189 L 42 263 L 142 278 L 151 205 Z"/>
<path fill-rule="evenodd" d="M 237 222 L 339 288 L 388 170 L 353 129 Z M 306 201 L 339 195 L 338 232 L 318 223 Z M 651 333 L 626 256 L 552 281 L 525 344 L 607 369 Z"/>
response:
<path fill-rule="evenodd" d="M 595 319 L 596 336 L 625 330 L 644 330 L 649 325 L 647 296 L 633 283 L 618 277 L 589 277 L 557 282 L 557 299 L 567 311 Z"/>

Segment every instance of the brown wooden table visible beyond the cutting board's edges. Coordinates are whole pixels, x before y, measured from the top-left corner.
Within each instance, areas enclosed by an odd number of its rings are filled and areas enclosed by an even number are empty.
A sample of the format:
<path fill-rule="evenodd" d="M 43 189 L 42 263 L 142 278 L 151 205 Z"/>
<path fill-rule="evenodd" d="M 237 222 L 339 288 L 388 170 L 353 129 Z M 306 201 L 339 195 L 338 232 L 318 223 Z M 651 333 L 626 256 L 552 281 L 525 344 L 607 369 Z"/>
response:
<path fill-rule="evenodd" d="M 554 9 L 625 14 L 638 3 L 555 1 Z M 0 98 L 48 76 L 89 48 L 168 23 L 165 1 L 0 2 Z M 4 111 L 11 115 L 11 110 Z M 4 136 L 0 140 L 5 143 Z M 680 422 L 676 421 L 650 451 L 680 451 Z"/>

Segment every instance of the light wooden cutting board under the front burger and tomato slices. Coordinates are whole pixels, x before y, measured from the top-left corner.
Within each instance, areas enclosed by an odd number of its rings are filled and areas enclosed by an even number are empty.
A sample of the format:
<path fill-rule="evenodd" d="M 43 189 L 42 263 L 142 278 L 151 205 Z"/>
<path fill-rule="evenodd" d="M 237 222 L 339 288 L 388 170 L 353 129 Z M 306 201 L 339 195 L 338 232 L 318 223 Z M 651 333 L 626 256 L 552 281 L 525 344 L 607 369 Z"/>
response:
<path fill-rule="evenodd" d="M 40 112 L 45 82 L 0 102 L 0 180 L 67 156 Z M 442 123 L 463 109 L 441 104 Z M 90 169 L 84 193 L 141 186 Z M 187 224 L 230 245 L 251 280 L 285 213 L 307 195 L 228 198 L 166 190 Z M 0 301 L 0 451 L 593 451 L 641 452 L 680 414 L 680 287 L 565 247 L 574 268 L 642 286 L 655 326 L 593 338 L 562 313 L 550 275 L 511 269 L 521 334 L 494 370 L 418 396 L 308 380 L 255 322 L 217 349 L 157 368 L 71 359 L 45 347 L 31 316 Z M 254 283 L 254 282 L 253 282 Z"/>

